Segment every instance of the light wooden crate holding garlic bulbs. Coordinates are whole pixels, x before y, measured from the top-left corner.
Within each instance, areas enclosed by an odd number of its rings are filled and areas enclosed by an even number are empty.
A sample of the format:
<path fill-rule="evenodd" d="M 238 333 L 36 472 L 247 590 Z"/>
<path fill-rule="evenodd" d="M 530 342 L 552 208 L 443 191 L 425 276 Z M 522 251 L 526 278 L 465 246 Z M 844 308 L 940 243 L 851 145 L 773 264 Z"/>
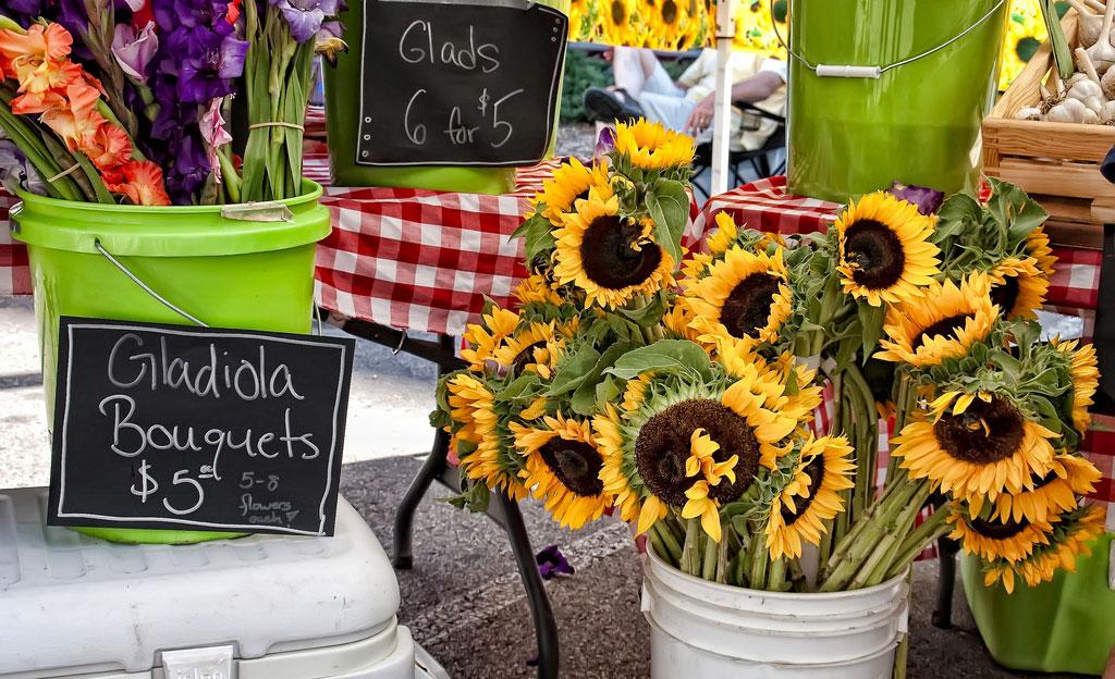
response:
<path fill-rule="evenodd" d="M 1075 10 L 1061 27 L 1069 45 L 1076 45 Z M 1115 146 L 1115 126 L 1015 119 L 1041 100 L 1040 85 L 1053 68 L 1046 43 L 985 118 L 983 173 L 1039 201 L 1049 212 L 1047 230 L 1055 243 L 1098 249 L 1103 224 L 1115 222 L 1115 185 L 1099 174 L 1099 163 Z"/>

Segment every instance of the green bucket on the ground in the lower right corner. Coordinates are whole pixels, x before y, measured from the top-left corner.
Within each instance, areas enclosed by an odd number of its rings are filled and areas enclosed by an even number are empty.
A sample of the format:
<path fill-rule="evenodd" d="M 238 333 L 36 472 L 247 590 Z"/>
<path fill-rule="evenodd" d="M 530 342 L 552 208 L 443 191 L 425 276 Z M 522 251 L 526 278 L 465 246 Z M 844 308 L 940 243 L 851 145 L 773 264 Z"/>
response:
<path fill-rule="evenodd" d="M 1016 579 L 1012 594 L 999 583 L 983 586 L 979 560 L 962 557 L 968 605 L 996 662 L 1021 671 L 1103 673 L 1115 647 L 1115 592 L 1107 584 L 1113 537 L 1093 543 L 1075 573 L 1060 571 L 1036 588 Z"/>

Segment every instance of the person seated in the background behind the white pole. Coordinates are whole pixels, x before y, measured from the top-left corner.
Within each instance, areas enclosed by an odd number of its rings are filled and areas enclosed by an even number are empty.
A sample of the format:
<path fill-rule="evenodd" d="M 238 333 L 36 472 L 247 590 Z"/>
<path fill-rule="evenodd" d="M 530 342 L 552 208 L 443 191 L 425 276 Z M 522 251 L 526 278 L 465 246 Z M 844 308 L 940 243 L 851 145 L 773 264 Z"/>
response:
<path fill-rule="evenodd" d="M 711 139 L 716 97 L 716 50 L 704 49 L 677 83 L 670 79 L 653 50 L 615 47 L 605 52 L 612 62 L 615 85 L 592 87 L 584 93 L 584 108 L 598 122 L 646 117 L 666 127 Z M 754 52 L 735 51 L 729 62 L 733 103 L 749 103 L 785 115 L 786 64 Z M 733 151 L 756 149 L 766 143 L 777 124 L 739 109 L 733 111 Z"/>

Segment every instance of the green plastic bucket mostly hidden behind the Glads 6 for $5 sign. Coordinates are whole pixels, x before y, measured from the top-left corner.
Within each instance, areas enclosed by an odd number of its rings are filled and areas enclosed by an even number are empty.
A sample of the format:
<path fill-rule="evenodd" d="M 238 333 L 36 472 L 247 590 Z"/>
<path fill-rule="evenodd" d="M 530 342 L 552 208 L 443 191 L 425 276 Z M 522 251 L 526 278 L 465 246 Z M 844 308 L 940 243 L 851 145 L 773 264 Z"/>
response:
<path fill-rule="evenodd" d="M 569 14 L 570 0 L 539 0 Z M 341 12 L 348 51 L 339 55 L 334 68 L 326 68 L 326 132 L 329 139 L 329 164 L 334 186 L 397 186 L 429 188 L 454 193 L 502 194 L 515 191 L 514 167 L 396 166 L 368 167 L 357 165 L 353 149 L 358 146 L 360 111 L 360 59 L 363 52 L 365 0 L 352 0 Z M 554 119 L 561 111 L 561 94 L 554 103 Z M 554 125 L 550 143 L 553 155 L 558 140 Z"/>

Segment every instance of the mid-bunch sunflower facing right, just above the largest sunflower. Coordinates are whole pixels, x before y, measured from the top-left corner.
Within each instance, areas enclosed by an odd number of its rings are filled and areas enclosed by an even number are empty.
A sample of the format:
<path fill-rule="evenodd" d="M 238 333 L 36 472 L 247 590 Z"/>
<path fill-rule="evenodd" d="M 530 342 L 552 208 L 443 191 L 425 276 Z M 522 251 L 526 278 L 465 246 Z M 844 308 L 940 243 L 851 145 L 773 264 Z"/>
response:
<path fill-rule="evenodd" d="M 775 343 L 793 311 L 780 248 L 770 256 L 733 245 L 685 294 L 695 314 L 692 327 L 711 343 L 729 337 Z"/>

